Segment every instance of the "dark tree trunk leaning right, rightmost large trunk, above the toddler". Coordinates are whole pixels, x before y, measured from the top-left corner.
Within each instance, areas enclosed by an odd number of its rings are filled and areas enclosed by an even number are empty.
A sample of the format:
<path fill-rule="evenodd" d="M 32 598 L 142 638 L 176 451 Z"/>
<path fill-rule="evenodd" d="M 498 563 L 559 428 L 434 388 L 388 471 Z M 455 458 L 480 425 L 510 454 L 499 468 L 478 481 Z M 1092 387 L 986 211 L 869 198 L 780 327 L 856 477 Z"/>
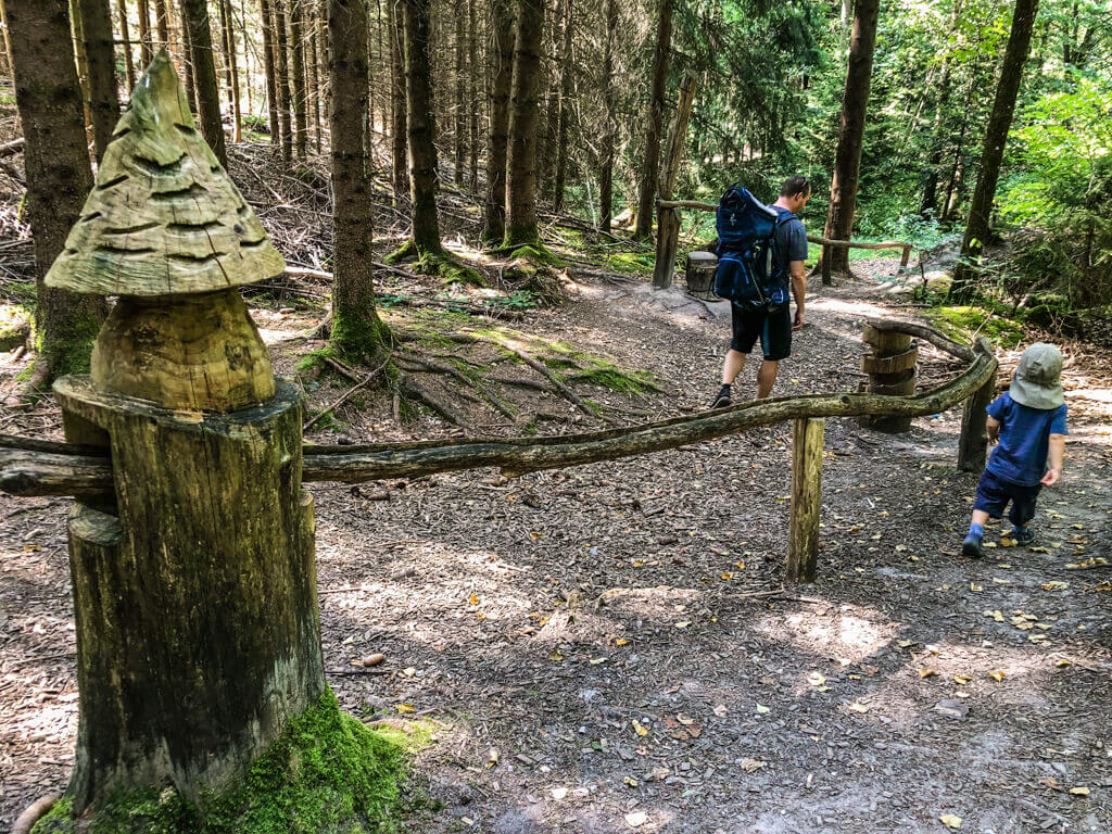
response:
<path fill-rule="evenodd" d="M 1007 38 L 1004 63 L 996 86 L 996 98 L 992 103 L 992 116 L 989 117 L 989 128 L 985 131 L 981 170 L 977 173 L 973 201 L 970 203 L 969 218 L 965 221 L 962 255 L 954 268 L 954 279 L 947 294 L 947 298 L 954 300 L 969 300 L 975 290 L 975 262 L 980 260 L 985 239 L 991 234 L 992 201 L 996 195 L 996 181 L 1000 179 L 1000 165 L 1004 159 L 1004 143 L 1012 127 L 1015 98 L 1020 91 L 1020 81 L 1023 79 L 1023 64 L 1027 60 L 1031 32 L 1034 30 L 1037 13 L 1039 0 L 1016 0 L 1015 12 L 1012 16 L 1012 32 Z"/>

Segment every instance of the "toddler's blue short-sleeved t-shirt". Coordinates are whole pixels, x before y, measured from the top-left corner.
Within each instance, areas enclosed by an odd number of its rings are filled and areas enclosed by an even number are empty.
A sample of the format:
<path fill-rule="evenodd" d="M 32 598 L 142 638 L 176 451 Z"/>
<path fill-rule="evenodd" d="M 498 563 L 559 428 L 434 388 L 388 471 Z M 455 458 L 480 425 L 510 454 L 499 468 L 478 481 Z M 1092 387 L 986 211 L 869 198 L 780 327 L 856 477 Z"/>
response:
<path fill-rule="evenodd" d="M 1000 421 L 1000 444 L 985 468 L 1021 486 L 1034 486 L 1046 474 L 1051 435 L 1065 435 L 1065 405 L 1058 408 L 1022 406 L 1004 391 L 987 408 Z"/>

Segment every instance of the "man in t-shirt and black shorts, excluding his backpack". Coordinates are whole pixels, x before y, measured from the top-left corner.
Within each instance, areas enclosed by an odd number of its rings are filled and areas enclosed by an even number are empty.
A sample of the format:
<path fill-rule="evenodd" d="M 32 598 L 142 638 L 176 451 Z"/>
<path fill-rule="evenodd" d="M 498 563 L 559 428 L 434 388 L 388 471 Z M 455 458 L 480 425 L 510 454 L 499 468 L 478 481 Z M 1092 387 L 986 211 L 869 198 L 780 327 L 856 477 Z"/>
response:
<path fill-rule="evenodd" d="M 795 317 L 792 318 L 787 304 L 778 308 L 756 310 L 731 305 L 733 338 L 729 340 L 726 361 L 722 366 L 722 389 L 711 408 L 731 405 L 731 386 L 745 367 L 745 360 L 758 338 L 764 361 L 757 371 L 757 399 L 768 396 L 776 381 L 780 360 L 792 354 L 792 332 L 803 327 L 804 296 L 807 292 L 807 276 L 803 269 L 803 261 L 807 257 L 807 232 L 798 214 L 810 199 L 811 183 L 806 177 L 788 177 L 780 189 L 780 199 L 770 207 L 781 218 L 781 222 L 776 224 L 775 257 L 780 259 L 778 274 L 791 276 Z M 785 219 L 787 214 L 792 217 Z"/>

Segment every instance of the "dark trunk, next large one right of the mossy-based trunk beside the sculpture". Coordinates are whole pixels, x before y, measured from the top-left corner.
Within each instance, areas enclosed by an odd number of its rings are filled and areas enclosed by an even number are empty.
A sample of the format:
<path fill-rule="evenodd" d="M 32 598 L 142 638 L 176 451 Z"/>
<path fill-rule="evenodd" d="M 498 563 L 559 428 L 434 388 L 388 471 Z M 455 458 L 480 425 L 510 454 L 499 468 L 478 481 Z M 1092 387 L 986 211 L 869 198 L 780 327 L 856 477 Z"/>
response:
<path fill-rule="evenodd" d="M 406 28 L 406 126 L 409 132 L 409 199 L 417 252 L 440 251 L 436 212 L 436 120 L 429 54 L 430 0 L 404 0 Z"/>

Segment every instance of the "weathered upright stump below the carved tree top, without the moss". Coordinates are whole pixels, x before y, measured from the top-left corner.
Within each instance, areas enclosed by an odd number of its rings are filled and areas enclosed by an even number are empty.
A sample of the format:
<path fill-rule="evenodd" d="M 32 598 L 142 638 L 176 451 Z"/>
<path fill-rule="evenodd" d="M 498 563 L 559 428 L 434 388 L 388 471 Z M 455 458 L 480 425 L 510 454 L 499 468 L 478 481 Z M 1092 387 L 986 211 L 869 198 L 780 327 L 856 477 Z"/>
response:
<path fill-rule="evenodd" d="M 166 783 L 196 801 L 326 691 L 299 394 L 287 383 L 261 408 L 197 423 L 82 378 L 56 394 L 69 437 L 110 444 L 117 496 L 115 513 L 78 504 L 69 523 L 81 711 L 68 794 L 77 813 Z"/>

